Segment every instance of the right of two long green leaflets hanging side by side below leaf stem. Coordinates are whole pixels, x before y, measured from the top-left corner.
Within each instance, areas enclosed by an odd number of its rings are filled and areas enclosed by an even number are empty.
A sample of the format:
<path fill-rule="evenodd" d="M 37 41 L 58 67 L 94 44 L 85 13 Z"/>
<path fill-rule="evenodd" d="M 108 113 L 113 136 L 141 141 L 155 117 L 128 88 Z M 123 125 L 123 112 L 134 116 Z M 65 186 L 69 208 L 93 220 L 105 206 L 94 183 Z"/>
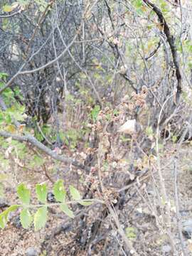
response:
<path fill-rule="evenodd" d="M 47 206 L 42 206 L 41 208 L 38 208 L 34 215 L 34 227 L 35 230 L 41 230 L 41 228 L 44 228 L 47 222 L 48 218 L 48 208 Z"/>

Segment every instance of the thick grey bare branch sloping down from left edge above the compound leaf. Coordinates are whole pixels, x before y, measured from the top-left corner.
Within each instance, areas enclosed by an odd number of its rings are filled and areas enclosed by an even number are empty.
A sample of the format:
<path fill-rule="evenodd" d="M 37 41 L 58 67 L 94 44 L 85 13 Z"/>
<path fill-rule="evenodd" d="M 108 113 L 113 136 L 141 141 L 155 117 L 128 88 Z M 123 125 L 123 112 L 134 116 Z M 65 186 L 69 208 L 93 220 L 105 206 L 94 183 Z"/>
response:
<path fill-rule="evenodd" d="M 61 161 L 65 164 L 72 164 L 73 166 L 77 167 L 78 169 L 82 169 L 87 173 L 89 173 L 90 171 L 90 167 L 80 164 L 75 159 L 71 159 L 70 157 L 60 156 L 56 154 L 53 150 L 49 149 L 47 146 L 43 145 L 41 142 L 38 142 L 38 140 L 35 137 L 33 137 L 33 135 L 31 134 L 26 134 L 21 136 L 17 134 L 11 134 L 9 132 L 0 131 L 0 136 L 4 138 L 11 137 L 12 139 L 17 140 L 18 142 L 30 142 L 33 146 L 36 146 L 38 149 L 41 149 L 48 156 L 52 157 L 55 160 Z"/>

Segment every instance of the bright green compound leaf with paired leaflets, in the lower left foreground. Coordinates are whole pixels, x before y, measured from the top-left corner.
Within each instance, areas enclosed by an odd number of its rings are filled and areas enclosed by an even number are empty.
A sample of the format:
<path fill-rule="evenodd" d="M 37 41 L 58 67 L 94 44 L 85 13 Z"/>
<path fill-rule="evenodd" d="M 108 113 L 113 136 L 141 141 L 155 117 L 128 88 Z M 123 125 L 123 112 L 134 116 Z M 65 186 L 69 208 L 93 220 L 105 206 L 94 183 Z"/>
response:
<path fill-rule="evenodd" d="M 46 186 L 46 183 L 36 184 L 36 196 L 41 204 L 30 204 L 31 191 L 23 183 L 18 186 L 17 193 L 21 204 L 10 206 L 0 214 L 0 228 L 5 228 L 8 221 L 9 213 L 16 210 L 17 208 L 21 208 L 20 220 L 23 228 L 30 228 L 33 222 L 36 231 L 44 228 L 46 225 L 46 221 L 48 218 L 48 206 L 59 206 L 60 210 L 68 215 L 68 217 L 75 218 L 73 210 L 70 210 L 70 208 L 68 207 L 68 204 L 70 204 L 70 202 L 65 202 L 66 191 L 63 186 L 63 180 L 61 179 L 56 181 L 53 185 L 55 200 L 59 203 L 47 203 L 48 188 Z M 73 186 L 70 186 L 70 195 L 73 198 L 73 201 L 71 203 L 75 203 L 74 201 L 76 201 L 76 203 L 80 203 L 82 206 L 90 206 L 90 204 L 92 203 L 92 200 L 89 199 L 82 200 L 80 192 Z M 33 215 L 31 214 L 30 209 L 34 210 L 34 208 L 38 209 Z"/>

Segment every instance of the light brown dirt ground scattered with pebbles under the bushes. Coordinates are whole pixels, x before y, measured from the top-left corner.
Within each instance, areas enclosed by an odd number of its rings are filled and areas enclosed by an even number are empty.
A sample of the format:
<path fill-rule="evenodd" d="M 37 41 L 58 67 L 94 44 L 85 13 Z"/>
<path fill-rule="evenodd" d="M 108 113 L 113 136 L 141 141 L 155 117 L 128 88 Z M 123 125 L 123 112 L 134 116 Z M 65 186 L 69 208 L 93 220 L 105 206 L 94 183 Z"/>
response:
<path fill-rule="evenodd" d="M 175 214 L 174 156 L 175 154 L 178 156 L 178 194 L 180 199 L 181 219 L 182 221 L 190 220 L 192 219 L 191 149 L 192 146 L 190 144 L 183 144 L 181 149 L 178 149 L 174 144 L 169 144 L 166 146 L 164 156 L 162 156 L 161 159 L 167 194 L 169 195 L 171 204 L 173 206 L 173 211 L 171 211 L 171 220 L 173 224 L 174 242 L 178 248 L 178 255 L 182 255 L 182 253 Z M 13 172 L 9 167 L 4 170 L 1 169 L 1 174 L 6 174 L 9 176 L 9 181 L 4 183 L 5 198 L 3 199 L 4 202 L 7 202 L 8 204 L 18 202 L 18 198 L 16 198 L 16 183 L 27 181 L 29 186 L 33 189 L 36 181 L 41 183 L 46 180 L 48 186 L 51 186 L 51 182 L 46 177 L 46 174 L 43 172 L 43 170 L 34 172 L 33 170 L 22 169 L 21 167 L 18 167 L 18 169 L 14 169 Z M 156 176 L 156 174 L 154 174 L 154 177 L 158 181 L 158 176 Z M 75 178 L 75 175 L 73 178 Z M 135 200 L 130 202 L 129 206 L 132 206 L 134 210 L 132 211 L 132 215 L 129 211 L 127 212 L 127 220 L 125 219 L 123 222 L 127 224 L 129 223 L 129 225 L 134 226 L 134 230 L 137 230 L 137 238 L 132 238 L 132 244 L 136 248 L 139 255 L 171 255 L 170 246 L 168 242 L 166 242 L 166 239 L 164 239 L 164 235 L 162 235 L 161 232 L 159 233 L 159 229 L 156 228 L 155 218 L 149 210 L 149 204 L 154 201 L 154 188 L 151 185 L 151 182 L 146 182 L 146 191 L 148 193 L 148 198 L 146 196 L 142 197 L 142 195 L 137 195 Z M 1 208 L 1 210 L 4 209 L 5 208 Z M 126 209 L 124 210 L 126 212 Z M 73 241 L 71 240 L 71 234 L 67 235 L 65 232 L 58 232 L 58 234 L 54 233 L 54 237 L 50 236 L 53 234 L 53 230 L 60 227 L 60 225 L 63 225 L 63 223 L 68 223 L 68 221 L 69 219 L 64 214 L 60 213 L 57 209 L 54 209 L 49 213 L 46 228 L 40 232 L 35 233 L 33 231 L 33 227 L 29 230 L 24 230 L 19 223 L 18 212 L 13 213 L 10 216 L 10 221 L 9 224 L 6 225 L 6 228 L 4 230 L 0 230 L 0 255 L 27 255 L 26 252 L 30 247 L 36 250 L 36 255 L 76 255 L 75 252 L 71 249 L 71 251 L 66 254 L 66 247 L 70 245 L 70 248 L 72 248 L 71 242 Z M 183 240 L 186 246 L 187 255 L 192 255 L 192 240 L 185 237 L 183 237 Z M 46 251 L 43 250 L 43 244 L 45 241 L 49 242 L 49 246 L 51 247 L 51 250 L 47 254 Z M 65 248 L 65 250 L 63 250 L 63 248 Z M 101 248 L 101 250 L 105 249 Z M 119 255 L 122 255 L 121 253 L 122 252 L 119 252 Z M 99 251 L 96 254 L 88 254 L 87 251 L 81 251 L 79 255 L 104 254 L 102 252 L 100 253 Z M 105 255 L 110 256 L 113 254 L 112 252 L 106 251 Z"/>

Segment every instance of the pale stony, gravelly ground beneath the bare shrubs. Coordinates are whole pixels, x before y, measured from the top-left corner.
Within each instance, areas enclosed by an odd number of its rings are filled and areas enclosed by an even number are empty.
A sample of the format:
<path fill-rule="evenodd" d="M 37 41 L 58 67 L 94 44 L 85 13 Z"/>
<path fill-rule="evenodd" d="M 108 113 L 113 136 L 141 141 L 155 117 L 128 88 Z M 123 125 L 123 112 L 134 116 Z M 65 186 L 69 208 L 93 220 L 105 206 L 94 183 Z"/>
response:
<path fill-rule="evenodd" d="M 176 243 L 178 255 L 182 255 L 175 208 L 175 155 L 178 157 L 178 196 L 181 221 L 183 223 L 183 243 L 186 247 L 187 255 L 192 255 L 191 144 L 183 144 L 179 149 L 176 144 L 169 144 L 166 146 L 166 150 L 161 159 L 166 190 L 171 202 L 173 238 Z M 43 171 L 35 172 L 30 169 L 21 168 L 20 166 L 18 169 L 14 169 L 13 172 L 9 166 L 7 169 L 1 169 L 1 174 L 9 176 L 9 179 L 4 183 L 5 196 L 4 198 L 1 198 L 0 201 L 1 210 L 6 208 L 6 204 L 10 205 L 11 203 L 17 202 L 16 183 L 28 181 L 30 187 L 33 188 L 36 181 L 41 183 L 46 179 L 49 186 L 51 186 L 50 180 L 46 177 L 46 174 Z M 73 178 L 74 177 L 75 176 L 73 176 Z M 154 178 L 156 178 L 156 183 L 158 183 L 158 176 L 155 171 Z M 119 221 L 122 223 L 122 227 L 124 228 L 125 233 L 127 233 L 127 237 L 132 242 L 132 245 L 139 255 L 171 255 L 171 247 L 167 242 L 165 235 L 161 233 L 161 228 L 159 229 L 156 225 L 155 214 L 150 210 L 150 206 L 153 206 L 153 203 L 156 203 L 154 184 L 151 181 L 152 179 L 149 175 L 148 178 L 144 179 L 144 182 L 141 182 L 140 185 L 143 185 L 143 188 L 139 189 L 139 191 L 137 191 L 136 188 L 138 185 L 137 183 L 137 185 L 132 186 L 132 189 L 129 192 L 132 200 L 124 206 L 122 213 L 119 213 Z M 90 209 L 88 213 L 89 215 L 94 214 L 94 211 Z M 117 255 L 114 254 L 115 250 L 112 245 L 112 236 L 118 237 L 115 230 L 113 230 L 113 233 L 110 231 L 109 234 L 107 234 L 111 238 L 111 242 L 108 242 L 107 245 L 106 243 L 103 244 L 102 242 L 98 242 L 93 254 L 91 251 L 89 252 L 87 248 L 84 251 L 81 248 L 78 252 L 77 245 L 74 244 L 73 246 L 75 224 L 70 226 L 69 221 L 70 220 L 57 209 L 50 210 L 46 228 L 35 233 L 33 227 L 29 230 L 24 230 L 21 227 L 18 212 L 16 212 L 10 216 L 10 221 L 6 228 L 0 230 L 0 255 Z M 103 223 L 104 225 L 107 225 L 109 222 L 108 220 L 105 220 Z M 61 227 L 63 227 L 63 230 Z M 126 227 L 129 228 L 126 229 Z M 46 251 L 45 248 L 48 250 Z M 119 251 L 119 255 L 123 255 L 122 251 Z"/>

